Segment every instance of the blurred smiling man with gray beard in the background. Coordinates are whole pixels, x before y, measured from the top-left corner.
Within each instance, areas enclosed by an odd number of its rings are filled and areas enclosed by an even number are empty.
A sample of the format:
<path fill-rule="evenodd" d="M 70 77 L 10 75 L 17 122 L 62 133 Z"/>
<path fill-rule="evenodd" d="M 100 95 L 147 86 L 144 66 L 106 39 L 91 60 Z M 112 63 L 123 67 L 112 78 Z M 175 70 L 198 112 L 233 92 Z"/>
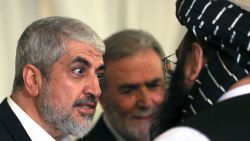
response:
<path fill-rule="evenodd" d="M 104 114 L 79 141 L 149 141 L 153 116 L 165 95 L 162 48 L 141 30 L 120 31 L 104 43 Z"/>

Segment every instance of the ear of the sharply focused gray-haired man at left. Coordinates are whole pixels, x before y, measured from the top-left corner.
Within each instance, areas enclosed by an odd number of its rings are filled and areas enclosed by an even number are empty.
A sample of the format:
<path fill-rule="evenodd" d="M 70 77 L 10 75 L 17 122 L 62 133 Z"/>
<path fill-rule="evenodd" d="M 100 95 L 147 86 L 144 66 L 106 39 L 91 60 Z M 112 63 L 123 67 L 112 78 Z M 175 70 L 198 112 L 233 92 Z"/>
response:
<path fill-rule="evenodd" d="M 23 69 L 23 80 L 28 94 L 32 97 L 37 96 L 42 84 L 40 70 L 32 64 L 27 64 Z"/>

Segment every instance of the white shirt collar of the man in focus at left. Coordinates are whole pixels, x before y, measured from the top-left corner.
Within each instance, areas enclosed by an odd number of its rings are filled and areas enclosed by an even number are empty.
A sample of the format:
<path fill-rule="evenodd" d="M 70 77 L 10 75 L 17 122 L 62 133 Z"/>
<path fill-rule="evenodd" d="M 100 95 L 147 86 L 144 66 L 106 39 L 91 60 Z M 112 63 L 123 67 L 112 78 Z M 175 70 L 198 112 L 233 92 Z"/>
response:
<path fill-rule="evenodd" d="M 32 141 L 55 141 L 42 127 L 32 120 L 10 97 L 7 102 Z"/>

